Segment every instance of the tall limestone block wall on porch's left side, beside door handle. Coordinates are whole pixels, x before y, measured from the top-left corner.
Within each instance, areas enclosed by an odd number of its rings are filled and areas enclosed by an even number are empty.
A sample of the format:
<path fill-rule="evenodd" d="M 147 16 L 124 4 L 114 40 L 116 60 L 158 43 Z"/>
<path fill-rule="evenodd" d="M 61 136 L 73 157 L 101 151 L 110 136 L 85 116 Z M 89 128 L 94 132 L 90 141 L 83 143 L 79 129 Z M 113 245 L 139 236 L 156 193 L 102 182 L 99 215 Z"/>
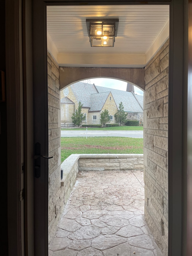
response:
<path fill-rule="evenodd" d="M 60 213 L 63 207 L 61 193 L 60 164 L 61 164 L 61 139 L 60 139 L 60 91 L 59 71 L 56 61 L 47 52 L 48 69 L 48 115 L 49 115 L 49 242 L 56 230 Z"/>

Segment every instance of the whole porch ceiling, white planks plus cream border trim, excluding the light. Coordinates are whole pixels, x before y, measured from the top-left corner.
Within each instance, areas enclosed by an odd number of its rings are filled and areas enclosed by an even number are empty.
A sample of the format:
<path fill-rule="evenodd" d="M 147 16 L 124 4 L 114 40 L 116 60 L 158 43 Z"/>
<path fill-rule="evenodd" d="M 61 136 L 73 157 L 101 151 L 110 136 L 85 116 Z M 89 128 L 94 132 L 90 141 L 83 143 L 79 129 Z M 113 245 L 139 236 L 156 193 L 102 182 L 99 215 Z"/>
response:
<path fill-rule="evenodd" d="M 91 47 L 86 18 L 119 18 L 114 47 Z M 144 67 L 169 37 L 168 5 L 48 6 L 47 48 L 59 66 Z"/>

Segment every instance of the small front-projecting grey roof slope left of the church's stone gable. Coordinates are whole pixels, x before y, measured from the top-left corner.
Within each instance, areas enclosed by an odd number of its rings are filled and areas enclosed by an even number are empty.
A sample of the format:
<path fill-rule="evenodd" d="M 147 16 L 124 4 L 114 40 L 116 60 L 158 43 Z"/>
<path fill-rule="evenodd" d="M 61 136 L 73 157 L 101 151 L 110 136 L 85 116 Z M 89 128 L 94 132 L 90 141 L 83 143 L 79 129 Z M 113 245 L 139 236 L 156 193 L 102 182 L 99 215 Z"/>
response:
<path fill-rule="evenodd" d="M 98 110 L 101 111 L 109 94 L 110 92 L 101 92 L 97 94 L 96 93 L 91 94 L 91 108 L 89 109 L 89 112 L 98 111 Z"/>

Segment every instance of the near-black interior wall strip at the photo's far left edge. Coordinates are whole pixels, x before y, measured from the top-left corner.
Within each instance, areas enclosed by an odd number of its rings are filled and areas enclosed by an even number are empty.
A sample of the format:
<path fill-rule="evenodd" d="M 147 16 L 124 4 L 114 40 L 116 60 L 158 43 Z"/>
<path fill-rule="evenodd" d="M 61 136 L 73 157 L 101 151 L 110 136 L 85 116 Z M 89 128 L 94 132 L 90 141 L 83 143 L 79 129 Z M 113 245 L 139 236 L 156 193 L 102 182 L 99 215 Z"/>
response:
<path fill-rule="evenodd" d="M 0 70 L 5 72 L 5 0 L 0 1 Z M 7 105 L 0 102 L 0 162 L 1 162 L 1 209 L 3 219 L 1 221 L 1 255 L 8 255 L 7 237 Z"/>

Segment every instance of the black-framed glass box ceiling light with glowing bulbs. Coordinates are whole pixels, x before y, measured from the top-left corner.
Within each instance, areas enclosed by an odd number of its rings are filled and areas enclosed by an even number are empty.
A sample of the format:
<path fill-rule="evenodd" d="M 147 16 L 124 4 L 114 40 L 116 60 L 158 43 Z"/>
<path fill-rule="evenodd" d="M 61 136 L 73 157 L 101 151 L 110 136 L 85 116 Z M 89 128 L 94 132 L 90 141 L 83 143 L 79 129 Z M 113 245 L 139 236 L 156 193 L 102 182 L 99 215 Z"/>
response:
<path fill-rule="evenodd" d="M 91 47 L 114 47 L 119 19 L 87 19 Z"/>

